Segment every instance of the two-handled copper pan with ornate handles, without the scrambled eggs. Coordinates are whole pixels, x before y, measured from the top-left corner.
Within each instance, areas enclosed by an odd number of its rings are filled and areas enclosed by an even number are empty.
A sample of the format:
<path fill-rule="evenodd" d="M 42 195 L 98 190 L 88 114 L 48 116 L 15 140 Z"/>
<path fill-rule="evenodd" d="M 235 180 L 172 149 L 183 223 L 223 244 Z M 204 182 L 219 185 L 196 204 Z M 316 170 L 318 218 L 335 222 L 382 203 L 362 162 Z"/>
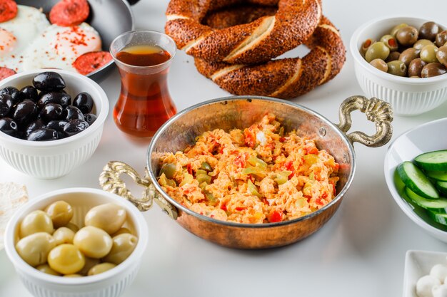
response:
<path fill-rule="evenodd" d="M 376 134 L 351 132 L 351 112 L 360 110 L 376 124 Z M 201 133 L 221 128 L 248 127 L 260 120 L 266 112 L 275 114 L 285 130 L 296 129 L 301 135 L 316 140 L 319 149 L 327 150 L 340 164 L 340 181 L 337 196 L 325 207 L 291 221 L 268 224 L 238 224 L 205 217 L 176 202 L 161 189 L 156 177 L 159 157 L 164 152 L 184 150 Z M 343 101 L 339 109 L 340 123 L 335 125 L 322 115 L 301 105 L 285 100 L 258 96 L 231 96 L 209 100 L 181 111 L 165 123 L 154 135 L 147 152 L 147 169 L 144 177 L 122 162 L 109 162 L 100 176 L 103 189 L 129 199 L 141 211 L 152 202 L 159 204 L 172 219 L 196 236 L 222 246 L 237 249 L 264 249 L 285 246 L 305 238 L 323 226 L 336 212 L 353 180 L 356 158 L 353 142 L 368 147 L 385 145 L 392 135 L 393 113 L 390 105 L 376 98 L 353 96 Z M 129 174 L 145 187 L 141 199 L 132 196 L 120 174 Z"/>

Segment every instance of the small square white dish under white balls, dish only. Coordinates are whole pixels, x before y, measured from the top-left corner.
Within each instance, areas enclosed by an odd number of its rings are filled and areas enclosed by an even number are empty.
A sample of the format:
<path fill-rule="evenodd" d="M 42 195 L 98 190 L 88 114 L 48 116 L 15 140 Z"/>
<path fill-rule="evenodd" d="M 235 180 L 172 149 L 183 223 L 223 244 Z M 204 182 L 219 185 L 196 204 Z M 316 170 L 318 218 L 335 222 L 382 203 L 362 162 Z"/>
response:
<path fill-rule="evenodd" d="M 418 297 L 416 295 L 418 279 L 429 274 L 431 268 L 436 264 L 447 265 L 447 253 L 439 251 L 407 251 L 403 272 L 403 297 Z"/>

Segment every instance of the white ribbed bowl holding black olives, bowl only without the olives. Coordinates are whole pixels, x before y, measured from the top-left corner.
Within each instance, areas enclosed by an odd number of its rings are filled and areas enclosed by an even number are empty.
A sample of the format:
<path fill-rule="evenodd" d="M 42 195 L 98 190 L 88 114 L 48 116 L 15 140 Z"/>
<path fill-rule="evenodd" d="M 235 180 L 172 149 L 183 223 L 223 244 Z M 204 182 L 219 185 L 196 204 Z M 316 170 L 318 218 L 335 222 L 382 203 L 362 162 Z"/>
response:
<path fill-rule="evenodd" d="M 101 140 L 104 121 L 109 113 L 109 100 L 104 90 L 84 75 L 71 71 L 51 69 L 62 75 L 66 92 L 73 99 L 87 92 L 94 100 L 94 113 L 98 117 L 86 130 L 61 140 L 28 141 L 0 132 L 0 156 L 16 170 L 41 179 L 54 179 L 74 170 L 93 155 Z M 34 76 L 43 70 L 26 71 L 0 81 L 6 86 L 22 88 L 32 85 Z M 4 169 L 7 170 L 7 169 Z"/>

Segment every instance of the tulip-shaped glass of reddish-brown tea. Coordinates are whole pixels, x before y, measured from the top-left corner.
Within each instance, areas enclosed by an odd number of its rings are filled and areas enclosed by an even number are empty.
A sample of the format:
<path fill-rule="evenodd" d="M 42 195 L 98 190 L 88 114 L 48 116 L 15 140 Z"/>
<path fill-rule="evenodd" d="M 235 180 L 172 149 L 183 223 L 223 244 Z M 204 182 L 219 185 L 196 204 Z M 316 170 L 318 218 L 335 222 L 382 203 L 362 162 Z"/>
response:
<path fill-rule="evenodd" d="M 152 137 L 176 114 L 167 82 L 176 44 L 156 31 L 129 31 L 112 41 L 110 53 L 121 75 L 114 121 L 128 135 Z"/>

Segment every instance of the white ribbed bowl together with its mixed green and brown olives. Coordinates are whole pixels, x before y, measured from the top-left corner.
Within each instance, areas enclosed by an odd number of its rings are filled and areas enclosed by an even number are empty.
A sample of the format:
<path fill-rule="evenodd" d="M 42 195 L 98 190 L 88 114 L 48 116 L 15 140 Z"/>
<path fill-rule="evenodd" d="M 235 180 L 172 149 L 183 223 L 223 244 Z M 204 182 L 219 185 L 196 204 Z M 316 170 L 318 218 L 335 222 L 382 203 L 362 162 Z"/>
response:
<path fill-rule="evenodd" d="M 368 21 L 350 42 L 356 78 L 396 115 L 419 115 L 447 100 L 447 26 L 417 17 Z"/>

